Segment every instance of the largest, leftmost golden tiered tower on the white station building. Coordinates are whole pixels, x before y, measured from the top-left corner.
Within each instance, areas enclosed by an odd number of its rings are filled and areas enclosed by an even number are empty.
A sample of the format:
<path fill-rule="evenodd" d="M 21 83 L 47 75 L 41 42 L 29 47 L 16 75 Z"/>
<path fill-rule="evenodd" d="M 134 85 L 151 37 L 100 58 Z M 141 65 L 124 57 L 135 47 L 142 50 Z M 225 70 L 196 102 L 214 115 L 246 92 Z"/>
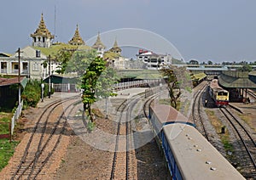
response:
<path fill-rule="evenodd" d="M 32 46 L 49 48 L 51 45 L 51 40 L 54 38 L 49 30 L 46 28 L 44 23 L 44 15 L 41 15 L 41 21 L 38 25 L 38 29 L 30 35 L 32 37 Z"/>

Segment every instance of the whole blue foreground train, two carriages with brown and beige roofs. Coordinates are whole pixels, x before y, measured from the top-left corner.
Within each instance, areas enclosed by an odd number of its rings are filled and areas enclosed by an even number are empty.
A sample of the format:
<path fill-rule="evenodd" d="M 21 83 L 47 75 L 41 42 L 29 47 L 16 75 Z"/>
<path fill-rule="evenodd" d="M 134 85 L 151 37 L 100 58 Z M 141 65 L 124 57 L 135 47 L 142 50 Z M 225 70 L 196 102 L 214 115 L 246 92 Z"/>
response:
<path fill-rule="evenodd" d="M 193 121 L 172 106 L 151 104 L 148 119 L 172 179 L 245 179 L 197 131 Z"/>

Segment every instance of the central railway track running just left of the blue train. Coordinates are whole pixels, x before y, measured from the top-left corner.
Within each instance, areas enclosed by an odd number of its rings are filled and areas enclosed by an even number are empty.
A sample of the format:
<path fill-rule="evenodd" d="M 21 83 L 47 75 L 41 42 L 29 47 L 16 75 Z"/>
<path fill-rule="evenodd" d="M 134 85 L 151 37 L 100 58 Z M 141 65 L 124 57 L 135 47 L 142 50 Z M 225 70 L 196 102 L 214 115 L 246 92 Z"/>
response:
<path fill-rule="evenodd" d="M 126 99 L 117 109 L 119 112 L 119 122 L 110 179 L 136 178 L 137 168 L 134 165 L 137 164 L 137 160 L 133 135 L 131 133 L 131 119 L 134 118 L 134 114 L 137 114 L 134 109 L 136 109 L 137 104 L 139 104 L 142 98 L 145 98 L 144 93 L 139 94 L 137 98 Z"/>

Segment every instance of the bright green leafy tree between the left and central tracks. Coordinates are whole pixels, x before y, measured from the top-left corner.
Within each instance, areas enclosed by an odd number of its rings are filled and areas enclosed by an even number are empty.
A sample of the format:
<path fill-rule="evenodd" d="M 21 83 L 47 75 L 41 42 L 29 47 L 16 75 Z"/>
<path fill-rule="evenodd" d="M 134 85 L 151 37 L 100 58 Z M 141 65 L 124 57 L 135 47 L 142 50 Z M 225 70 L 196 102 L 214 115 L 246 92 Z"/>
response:
<path fill-rule="evenodd" d="M 93 122 L 91 105 L 99 97 L 114 95 L 112 87 L 115 71 L 107 66 L 107 60 L 97 56 L 94 49 L 61 49 L 56 58 L 61 61 L 60 73 L 77 73 L 79 76 L 84 112 L 88 113 L 90 122 Z"/>

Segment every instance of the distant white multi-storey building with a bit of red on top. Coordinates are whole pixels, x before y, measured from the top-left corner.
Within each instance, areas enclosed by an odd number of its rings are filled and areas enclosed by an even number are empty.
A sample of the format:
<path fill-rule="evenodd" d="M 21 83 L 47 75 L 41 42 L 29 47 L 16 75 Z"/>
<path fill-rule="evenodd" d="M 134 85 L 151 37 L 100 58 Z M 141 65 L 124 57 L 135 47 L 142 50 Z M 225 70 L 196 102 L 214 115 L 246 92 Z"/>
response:
<path fill-rule="evenodd" d="M 148 70 L 160 70 L 162 65 L 171 65 L 172 56 L 169 54 L 153 53 L 140 49 L 137 54 L 137 60 L 142 61 Z"/>

